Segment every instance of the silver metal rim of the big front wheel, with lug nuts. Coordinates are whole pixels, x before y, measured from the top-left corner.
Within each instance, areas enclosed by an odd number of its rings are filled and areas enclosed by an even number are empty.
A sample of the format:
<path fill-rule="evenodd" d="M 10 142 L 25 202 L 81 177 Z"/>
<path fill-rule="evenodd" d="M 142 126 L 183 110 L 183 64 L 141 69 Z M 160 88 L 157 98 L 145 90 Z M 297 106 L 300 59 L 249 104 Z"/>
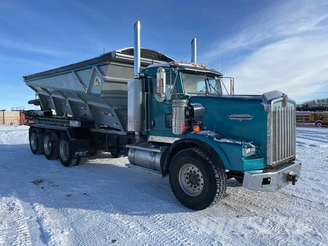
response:
<path fill-rule="evenodd" d="M 204 179 L 200 170 L 192 165 L 183 165 L 179 171 L 181 189 L 190 196 L 197 196 L 204 187 Z"/>

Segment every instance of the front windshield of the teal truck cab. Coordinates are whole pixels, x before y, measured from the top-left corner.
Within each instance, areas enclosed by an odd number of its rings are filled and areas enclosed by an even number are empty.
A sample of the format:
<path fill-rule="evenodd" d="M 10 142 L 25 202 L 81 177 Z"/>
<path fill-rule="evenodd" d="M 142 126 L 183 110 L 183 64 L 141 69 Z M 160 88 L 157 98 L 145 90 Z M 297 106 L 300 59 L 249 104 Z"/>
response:
<path fill-rule="evenodd" d="M 188 94 L 222 95 L 220 79 L 214 74 L 182 72 L 182 83 Z"/>

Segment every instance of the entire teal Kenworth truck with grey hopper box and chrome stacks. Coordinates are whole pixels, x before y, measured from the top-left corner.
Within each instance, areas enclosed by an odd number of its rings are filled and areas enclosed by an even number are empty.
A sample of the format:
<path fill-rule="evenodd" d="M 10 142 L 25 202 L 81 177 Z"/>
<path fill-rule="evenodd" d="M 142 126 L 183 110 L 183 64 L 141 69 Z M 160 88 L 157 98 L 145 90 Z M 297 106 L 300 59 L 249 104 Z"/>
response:
<path fill-rule="evenodd" d="M 275 192 L 300 175 L 295 102 L 279 91 L 234 95 L 232 78 L 225 95 L 223 75 L 197 64 L 196 39 L 191 63 L 179 63 L 140 48 L 137 22 L 133 48 L 23 78 L 41 108 L 28 114 L 31 151 L 65 167 L 128 156 L 128 167 L 168 175 L 194 210 L 220 201 L 228 178 Z"/>

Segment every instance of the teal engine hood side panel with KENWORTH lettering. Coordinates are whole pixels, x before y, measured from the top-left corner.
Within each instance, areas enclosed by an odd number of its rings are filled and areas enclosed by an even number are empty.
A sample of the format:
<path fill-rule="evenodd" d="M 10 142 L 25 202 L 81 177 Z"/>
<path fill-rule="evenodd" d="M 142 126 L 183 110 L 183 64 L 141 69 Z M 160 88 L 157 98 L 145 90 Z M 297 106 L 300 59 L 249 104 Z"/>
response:
<path fill-rule="evenodd" d="M 201 130 L 224 138 L 253 142 L 265 155 L 267 149 L 267 103 L 262 95 L 191 96 L 191 104 L 204 106 Z"/>

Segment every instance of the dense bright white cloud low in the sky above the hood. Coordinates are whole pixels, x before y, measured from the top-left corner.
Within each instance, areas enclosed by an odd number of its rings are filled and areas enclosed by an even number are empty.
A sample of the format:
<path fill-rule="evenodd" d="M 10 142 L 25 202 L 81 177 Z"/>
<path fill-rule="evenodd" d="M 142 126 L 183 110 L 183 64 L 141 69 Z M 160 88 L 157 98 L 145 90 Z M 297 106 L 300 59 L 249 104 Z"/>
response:
<path fill-rule="evenodd" d="M 328 85 L 326 40 L 292 37 L 258 49 L 229 71 L 235 75 L 236 93 L 280 90 L 297 98 L 321 92 Z"/>

